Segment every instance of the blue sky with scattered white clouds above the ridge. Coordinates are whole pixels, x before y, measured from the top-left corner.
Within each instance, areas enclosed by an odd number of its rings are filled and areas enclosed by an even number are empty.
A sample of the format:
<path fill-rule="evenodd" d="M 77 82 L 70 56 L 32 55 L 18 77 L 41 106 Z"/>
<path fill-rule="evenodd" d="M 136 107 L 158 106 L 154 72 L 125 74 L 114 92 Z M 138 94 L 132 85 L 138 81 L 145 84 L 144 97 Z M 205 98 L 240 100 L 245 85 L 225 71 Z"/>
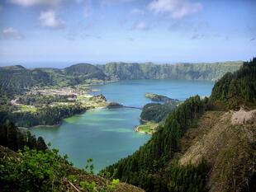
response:
<path fill-rule="evenodd" d="M 256 0 L 0 0 L 0 65 L 249 60 L 255 10 Z"/>

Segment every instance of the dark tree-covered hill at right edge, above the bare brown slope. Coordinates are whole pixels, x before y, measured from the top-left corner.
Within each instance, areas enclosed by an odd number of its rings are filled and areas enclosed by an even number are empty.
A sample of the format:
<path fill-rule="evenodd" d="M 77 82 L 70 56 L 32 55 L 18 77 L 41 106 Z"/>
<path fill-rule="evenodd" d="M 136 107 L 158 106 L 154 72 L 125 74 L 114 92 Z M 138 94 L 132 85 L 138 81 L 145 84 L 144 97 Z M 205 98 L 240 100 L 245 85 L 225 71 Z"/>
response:
<path fill-rule="evenodd" d="M 245 62 L 235 73 L 226 73 L 216 82 L 211 92 L 211 101 L 229 109 L 242 105 L 256 105 L 256 58 Z"/>

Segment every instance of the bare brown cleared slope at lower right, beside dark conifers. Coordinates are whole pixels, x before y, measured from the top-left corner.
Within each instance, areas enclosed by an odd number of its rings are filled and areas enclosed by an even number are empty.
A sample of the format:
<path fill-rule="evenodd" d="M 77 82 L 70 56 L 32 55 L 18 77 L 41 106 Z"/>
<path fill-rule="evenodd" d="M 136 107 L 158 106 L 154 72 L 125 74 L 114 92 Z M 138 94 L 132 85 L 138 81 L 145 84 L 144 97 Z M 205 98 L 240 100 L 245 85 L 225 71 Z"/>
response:
<path fill-rule="evenodd" d="M 256 110 L 239 124 L 232 123 L 236 113 L 207 111 L 197 129 L 188 129 L 181 141 L 181 165 L 198 164 L 202 157 L 211 164 L 210 191 L 248 190 L 249 180 L 256 173 Z"/>

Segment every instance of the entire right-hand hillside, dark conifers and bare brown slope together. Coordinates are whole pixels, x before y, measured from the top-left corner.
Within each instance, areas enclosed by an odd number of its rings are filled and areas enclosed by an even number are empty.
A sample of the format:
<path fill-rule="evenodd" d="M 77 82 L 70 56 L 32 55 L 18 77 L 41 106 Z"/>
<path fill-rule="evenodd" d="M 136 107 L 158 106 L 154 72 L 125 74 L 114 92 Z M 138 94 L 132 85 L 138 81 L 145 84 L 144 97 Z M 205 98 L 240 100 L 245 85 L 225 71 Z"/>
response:
<path fill-rule="evenodd" d="M 211 101 L 195 96 L 178 105 L 148 143 L 106 170 L 146 191 L 254 191 L 256 113 L 237 120 L 216 105 L 255 108 L 255 61 L 216 82 Z"/>

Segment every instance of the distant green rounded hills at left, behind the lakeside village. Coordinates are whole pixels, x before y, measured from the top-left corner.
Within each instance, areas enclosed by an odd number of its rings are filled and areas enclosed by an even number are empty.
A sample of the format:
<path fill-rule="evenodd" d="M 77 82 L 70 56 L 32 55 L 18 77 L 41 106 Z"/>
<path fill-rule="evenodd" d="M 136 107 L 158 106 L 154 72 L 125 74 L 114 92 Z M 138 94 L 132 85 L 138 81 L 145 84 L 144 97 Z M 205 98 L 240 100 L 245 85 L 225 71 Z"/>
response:
<path fill-rule="evenodd" d="M 69 68 L 24 68 L 21 65 L 0 68 L 0 90 L 6 87 L 27 89 L 31 87 L 68 87 L 87 79 L 107 80 L 107 76 L 92 64 L 80 63 Z"/>

